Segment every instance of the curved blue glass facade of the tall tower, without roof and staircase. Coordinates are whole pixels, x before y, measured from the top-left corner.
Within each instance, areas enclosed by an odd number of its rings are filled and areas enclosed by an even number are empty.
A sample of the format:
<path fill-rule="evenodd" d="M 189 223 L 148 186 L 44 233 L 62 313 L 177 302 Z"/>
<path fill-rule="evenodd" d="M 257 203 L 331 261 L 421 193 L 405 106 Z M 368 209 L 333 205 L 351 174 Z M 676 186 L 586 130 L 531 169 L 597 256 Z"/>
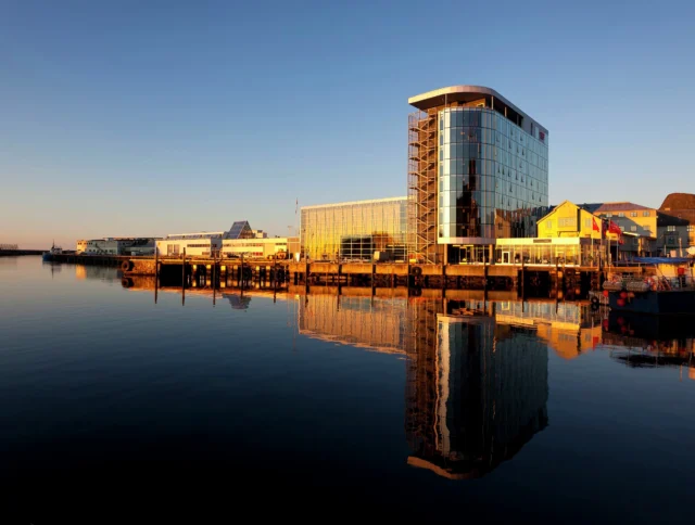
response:
<path fill-rule="evenodd" d="M 547 212 L 547 137 L 498 112 L 439 112 L 438 243 L 535 235 Z"/>

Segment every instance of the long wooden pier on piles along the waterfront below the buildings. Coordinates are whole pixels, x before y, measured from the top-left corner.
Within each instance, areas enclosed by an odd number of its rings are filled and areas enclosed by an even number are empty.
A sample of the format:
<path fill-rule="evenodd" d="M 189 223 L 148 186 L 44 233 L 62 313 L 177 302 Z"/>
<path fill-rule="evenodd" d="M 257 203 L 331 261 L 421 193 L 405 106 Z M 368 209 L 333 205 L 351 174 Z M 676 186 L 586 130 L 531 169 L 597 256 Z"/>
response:
<path fill-rule="evenodd" d="M 531 296 L 542 290 L 557 298 L 585 296 L 601 290 L 610 271 L 643 274 L 644 267 L 577 267 L 549 265 L 426 265 L 406 262 L 329 262 L 186 256 L 130 257 L 59 255 L 56 261 L 117 266 L 128 276 L 153 276 L 180 282 L 213 279 L 228 285 L 251 286 L 258 283 L 290 284 L 305 291 L 317 286 L 370 289 L 415 287 L 419 290 L 479 290 L 518 293 Z M 233 284 L 237 283 L 237 284 Z"/>

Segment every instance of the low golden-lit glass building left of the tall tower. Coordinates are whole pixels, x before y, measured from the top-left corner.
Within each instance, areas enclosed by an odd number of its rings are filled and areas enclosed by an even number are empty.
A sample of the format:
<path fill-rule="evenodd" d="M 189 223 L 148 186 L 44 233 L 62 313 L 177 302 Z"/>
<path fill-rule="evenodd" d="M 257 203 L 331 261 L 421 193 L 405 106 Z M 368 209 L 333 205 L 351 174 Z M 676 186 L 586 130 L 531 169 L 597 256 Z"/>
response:
<path fill-rule="evenodd" d="M 305 206 L 301 212 L 302 254 L 315 260 L 372 260 L 386 252 L 405 260 L 407 197 Z"/>

